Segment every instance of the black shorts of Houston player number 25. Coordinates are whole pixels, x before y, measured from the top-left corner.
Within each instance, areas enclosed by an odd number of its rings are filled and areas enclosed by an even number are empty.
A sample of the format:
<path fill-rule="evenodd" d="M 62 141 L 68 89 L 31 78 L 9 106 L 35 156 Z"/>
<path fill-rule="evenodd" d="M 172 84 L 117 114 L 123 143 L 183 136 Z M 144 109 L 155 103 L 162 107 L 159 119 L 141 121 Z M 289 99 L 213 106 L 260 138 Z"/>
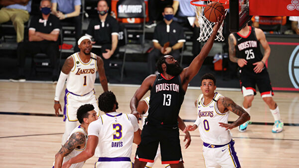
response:
<path fill-rule="evenodd" d="M 257 94 L 256 93 L 256 85 L 259 88 L 261 96 L 274 95 L 267 69 L 264 69 L 259 74 L 242 71 L 240 85 L 241 85 L 242 93 L 244 96 L 250 95 L 250 94 L 245 93 L 244 89 L 246 89 L 246 90 L 251 89 L 251 90 L 253 90 L 254 95 L 256 95 Z"/>

